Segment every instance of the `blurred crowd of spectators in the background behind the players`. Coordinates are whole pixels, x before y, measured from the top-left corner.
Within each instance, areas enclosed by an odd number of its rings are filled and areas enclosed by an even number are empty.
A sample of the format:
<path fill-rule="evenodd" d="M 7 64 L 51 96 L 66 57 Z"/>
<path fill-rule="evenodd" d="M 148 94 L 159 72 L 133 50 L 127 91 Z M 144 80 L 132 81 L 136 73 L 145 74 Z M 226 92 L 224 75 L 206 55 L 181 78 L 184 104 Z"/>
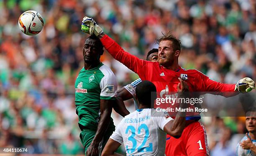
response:
<path fill-rule="evenodd" d="M 36 36 L 24 35 L 26 10 L 44 17 Z M 255 0 L 0 0 L 0 147 L 29 153 L 84 153 L 74 105 L 74 82 L 83 67 L 87 34 L 81 20 L 95 19 L 123 49 L 141 59 L 171 31 L 182 41 L 179 64 L 211 79 L 256 80 Z M 119 87 L 138 76 L 107 52 Z M 133 101 L 125 102 L 134 110 Z M 115 125 L 122 119 L 113 111 Z M 245 135 L 242 117 L 204 117 L 212 156 L 233 156 Z"/>

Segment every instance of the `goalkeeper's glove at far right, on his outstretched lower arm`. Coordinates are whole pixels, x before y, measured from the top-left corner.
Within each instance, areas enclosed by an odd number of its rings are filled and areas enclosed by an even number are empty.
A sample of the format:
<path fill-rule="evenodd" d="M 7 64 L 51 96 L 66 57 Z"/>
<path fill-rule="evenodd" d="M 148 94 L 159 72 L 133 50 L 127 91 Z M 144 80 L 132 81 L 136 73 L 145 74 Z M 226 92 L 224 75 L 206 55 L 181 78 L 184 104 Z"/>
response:
<path fill-rule="evenodd" d="M 245 77 L 243 79 L 240 79 L 236 83 L 235 90 L 241 93 L 246 93 L 246 92 L 251 92 L 251 90 L 253 90 L 254 88 L 255 88 L 254 81 L 249 77 Z"/>

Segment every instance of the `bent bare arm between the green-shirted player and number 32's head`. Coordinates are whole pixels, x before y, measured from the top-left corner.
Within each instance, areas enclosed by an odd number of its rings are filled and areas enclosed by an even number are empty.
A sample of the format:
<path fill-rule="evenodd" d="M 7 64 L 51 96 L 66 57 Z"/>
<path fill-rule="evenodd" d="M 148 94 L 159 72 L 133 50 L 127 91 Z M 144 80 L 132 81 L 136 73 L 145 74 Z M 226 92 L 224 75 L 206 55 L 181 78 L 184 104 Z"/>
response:
<path fill-rule="evenodd" d="M 128 92 L 128 90 L 126 90 L 125 87 L 122 87 L 120 90 L 118 90 L 116 101 L 115 101 L 116 104 L 113 105 L 115 112 L 120 114 L 123 117 L 130 114 L 130 112 L 126 109 L 123 101 L 129 100 L 131 98 L 133 98 L 133 95 L 131 95 L 131 93 Z"/>

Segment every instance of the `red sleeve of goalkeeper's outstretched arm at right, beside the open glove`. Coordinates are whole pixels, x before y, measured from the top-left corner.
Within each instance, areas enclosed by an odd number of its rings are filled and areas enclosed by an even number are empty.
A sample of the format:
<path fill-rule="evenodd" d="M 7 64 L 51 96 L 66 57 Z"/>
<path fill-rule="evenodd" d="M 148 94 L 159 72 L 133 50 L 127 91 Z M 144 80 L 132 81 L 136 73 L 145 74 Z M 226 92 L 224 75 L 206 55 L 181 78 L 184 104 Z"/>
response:
<path fill-rule="evenodd" d="M 234 95 L 237 95 L 238 92 L 234 91 L 236 84 L 224 84 L 220 82 L 216 82 L 209 77 L 207 77 L 205 74 L 202 74 L 201 72 L 197 71 L 199 74 L 199 81 L 202 83 L 198 83 L 197 85 L 197 91 L 199 92 L 219 92 L 219 95 L 223 95 L 225 97 L 231 97 Z"/>

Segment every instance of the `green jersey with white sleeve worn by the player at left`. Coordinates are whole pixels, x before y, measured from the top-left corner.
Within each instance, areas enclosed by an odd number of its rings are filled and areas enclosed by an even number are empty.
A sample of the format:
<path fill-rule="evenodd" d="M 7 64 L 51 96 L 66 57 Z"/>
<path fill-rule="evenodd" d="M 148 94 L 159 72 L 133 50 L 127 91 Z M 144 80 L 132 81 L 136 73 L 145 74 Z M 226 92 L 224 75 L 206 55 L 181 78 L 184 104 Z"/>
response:
<path fill-rule="evenodd" d="M 80 70 L 75 82 L 75 105 L 79 124 L 85 128 L 97 129 L 100 120 L 100 100 L 115 100 L 117 80 L 108 66 Z M 113 124 L 111 118 L 110 125 Z"/>

